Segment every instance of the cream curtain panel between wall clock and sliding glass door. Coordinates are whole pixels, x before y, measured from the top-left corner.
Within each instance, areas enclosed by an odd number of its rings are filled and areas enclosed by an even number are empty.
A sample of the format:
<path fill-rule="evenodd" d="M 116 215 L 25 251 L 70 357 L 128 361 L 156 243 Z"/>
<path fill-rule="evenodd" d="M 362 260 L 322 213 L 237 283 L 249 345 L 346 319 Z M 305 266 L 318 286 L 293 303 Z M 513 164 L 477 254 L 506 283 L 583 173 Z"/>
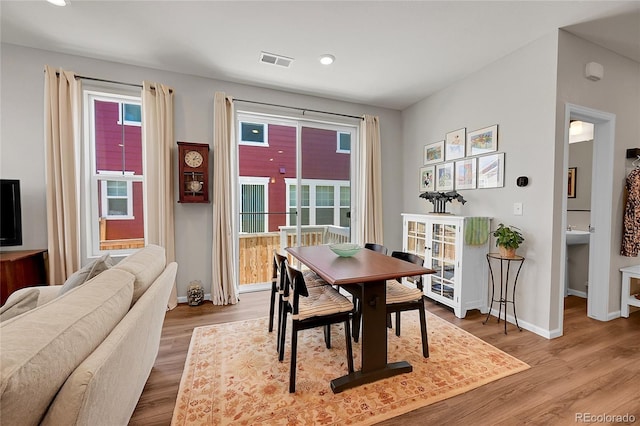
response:
<path fill-rule="evenodd" d="M 233 100 L 216 92 L 213 103 L 213 253 L 211 299 L 214 305 L 238 303 L 235 224 Z"/>

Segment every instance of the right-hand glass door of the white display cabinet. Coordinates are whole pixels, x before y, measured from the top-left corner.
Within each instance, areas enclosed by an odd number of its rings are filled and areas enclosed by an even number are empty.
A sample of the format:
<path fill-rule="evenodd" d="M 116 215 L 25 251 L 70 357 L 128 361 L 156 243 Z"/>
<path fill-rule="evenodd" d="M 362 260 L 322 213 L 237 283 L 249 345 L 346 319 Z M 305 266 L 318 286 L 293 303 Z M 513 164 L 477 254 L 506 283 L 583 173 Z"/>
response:
<path fill-rule="evenodd" d="M 431 292 L 453 300 L 456 272 L 456 231 L 453 224 L 434 223 L 431 227 Z"/>

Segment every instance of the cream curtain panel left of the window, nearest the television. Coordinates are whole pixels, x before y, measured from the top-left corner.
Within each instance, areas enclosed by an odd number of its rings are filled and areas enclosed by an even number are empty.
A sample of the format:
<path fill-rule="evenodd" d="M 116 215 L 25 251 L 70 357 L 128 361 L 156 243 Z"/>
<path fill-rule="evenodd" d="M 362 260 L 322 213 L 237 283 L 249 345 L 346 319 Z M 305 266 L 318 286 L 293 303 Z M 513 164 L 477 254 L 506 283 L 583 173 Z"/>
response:
<path fill-rule="evenodd" d="M 80 100 L 75 74 L 45 66 L 44 127 L 49 283 L 80 269 Z"/>

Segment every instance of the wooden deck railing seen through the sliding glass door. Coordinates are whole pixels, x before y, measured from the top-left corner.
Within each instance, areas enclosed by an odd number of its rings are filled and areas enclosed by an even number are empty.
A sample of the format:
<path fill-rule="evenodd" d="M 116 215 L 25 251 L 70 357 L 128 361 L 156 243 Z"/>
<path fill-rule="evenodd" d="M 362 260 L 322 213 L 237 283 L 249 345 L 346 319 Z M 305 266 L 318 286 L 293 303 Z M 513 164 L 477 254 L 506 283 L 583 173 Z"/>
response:
<path fill-rule="evenodd" d="M 280 232 L 240 234 L 240 285 L 271 282 L 273 250 L 285 247 L 348 242 L 349 228 L 302 226 L 300 243 L 295 226 L 281 226 Z"/>

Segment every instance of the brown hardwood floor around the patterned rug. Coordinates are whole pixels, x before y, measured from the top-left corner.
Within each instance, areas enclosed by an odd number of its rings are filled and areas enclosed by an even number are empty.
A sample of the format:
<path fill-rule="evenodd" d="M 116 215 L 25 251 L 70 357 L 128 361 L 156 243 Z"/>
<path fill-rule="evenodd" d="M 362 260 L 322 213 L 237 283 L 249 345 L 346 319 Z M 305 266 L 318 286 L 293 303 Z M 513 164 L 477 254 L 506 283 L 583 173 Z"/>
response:
<path fill-rule="evenodd" d="M 156 364 L 130 424 L 171 423 L 194 327 L 266 316 L 268 297 L 269 292 L 247 293 L 237 305 L 181 304 L 168 312 Z M 564 336 L 548 340 L 511 324 L 505 336 L 495 318 L 483 325 L 479 311 L 459 319 L 446 307 L 425 303 L 430 312 L 531 368 L 381 425 L 565 425 L 580 423 L 576 415 L 581 413 L 583 418 L 629 414 L 640 424 L 640 312 L 600 322 L 587 317 L 584 299 L 570 296 Z"/>

